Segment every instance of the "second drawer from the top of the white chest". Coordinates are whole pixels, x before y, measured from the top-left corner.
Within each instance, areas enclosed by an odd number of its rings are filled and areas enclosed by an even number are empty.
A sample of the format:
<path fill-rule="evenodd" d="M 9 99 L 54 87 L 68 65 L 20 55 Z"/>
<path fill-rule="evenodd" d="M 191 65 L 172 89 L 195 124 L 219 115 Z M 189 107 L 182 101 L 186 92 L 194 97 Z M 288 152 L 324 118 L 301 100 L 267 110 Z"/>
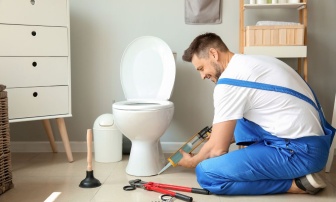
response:
<path fill-rule="evenodd" d="M 68 56 L 68 29 L 0 24 L 0 56 Z"/>

